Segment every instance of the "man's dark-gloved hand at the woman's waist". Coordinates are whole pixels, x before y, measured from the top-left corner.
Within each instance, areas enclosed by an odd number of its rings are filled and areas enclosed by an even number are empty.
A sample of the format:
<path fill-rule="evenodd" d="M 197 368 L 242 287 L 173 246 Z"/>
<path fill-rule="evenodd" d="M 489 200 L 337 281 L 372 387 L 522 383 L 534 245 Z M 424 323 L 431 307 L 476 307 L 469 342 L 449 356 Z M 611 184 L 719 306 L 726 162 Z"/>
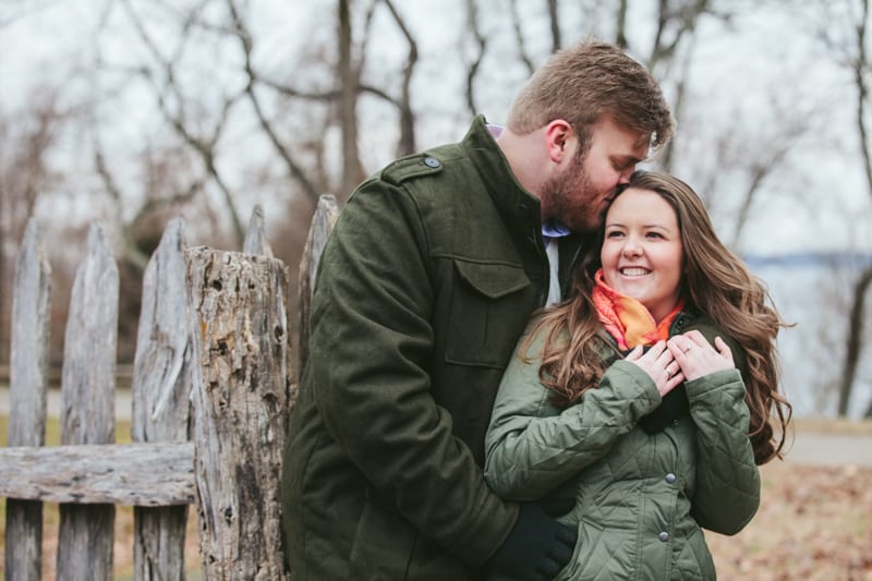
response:
<path fill-rule="evenodd" d="M 572 558 L 578 532 L 554 517 L 540 504 L 521 504 L 518 521 L 487 565 L 520 581 L 550 581 L 557 577 Z"/>

